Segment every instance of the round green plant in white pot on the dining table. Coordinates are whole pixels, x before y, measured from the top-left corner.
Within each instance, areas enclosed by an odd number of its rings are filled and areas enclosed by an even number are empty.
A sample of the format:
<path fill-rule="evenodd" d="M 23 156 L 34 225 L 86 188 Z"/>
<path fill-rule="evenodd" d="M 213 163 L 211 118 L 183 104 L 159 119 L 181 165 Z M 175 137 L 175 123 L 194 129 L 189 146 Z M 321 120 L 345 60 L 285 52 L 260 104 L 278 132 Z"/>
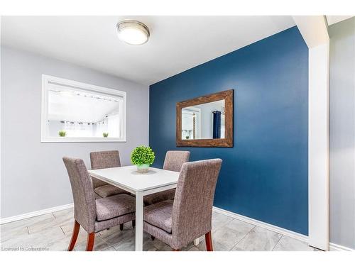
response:
<path fill-rule="evenodd" d="M 150 147 L 139 146 L 131 153 L 131 162 L 137 166 L 137 171 L 146 173 L 149 170 L 149 165 L 154 162 L 155 155 Z"/>

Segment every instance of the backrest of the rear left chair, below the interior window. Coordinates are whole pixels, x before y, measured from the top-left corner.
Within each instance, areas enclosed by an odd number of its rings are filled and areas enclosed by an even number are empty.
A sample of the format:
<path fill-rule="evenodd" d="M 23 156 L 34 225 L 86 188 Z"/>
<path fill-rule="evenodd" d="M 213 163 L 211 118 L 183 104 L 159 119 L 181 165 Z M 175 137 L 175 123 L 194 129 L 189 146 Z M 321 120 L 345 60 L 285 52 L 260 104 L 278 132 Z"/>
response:
<path fill-rule="evenodd" d="M 104 150 L 101 152 L 92 152 L 90 153 L 90 161 L 92 170 L 121 166 L 118 150 Z M 107 182 L 92 177 L 92 186 L 94 187 L 94 189 L 96 189 L 97 187 L 102 187 L 105 184 L 107 184 Z"/>

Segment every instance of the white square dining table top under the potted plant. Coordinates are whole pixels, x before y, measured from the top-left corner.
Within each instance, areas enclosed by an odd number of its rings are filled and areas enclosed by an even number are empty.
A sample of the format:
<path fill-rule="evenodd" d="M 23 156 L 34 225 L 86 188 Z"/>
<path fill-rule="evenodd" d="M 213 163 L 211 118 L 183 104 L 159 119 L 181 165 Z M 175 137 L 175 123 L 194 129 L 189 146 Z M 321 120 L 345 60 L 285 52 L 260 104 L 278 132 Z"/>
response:
<path fill-rule="evenodd" d="M 177 184 L 180 174 L 155 167 L 149 167 L 146 173 L 139 173 L 136 165 L 89 170 L 88 172 L 92 177 L 126 188 L 131 192 L 143 192 Z"/>

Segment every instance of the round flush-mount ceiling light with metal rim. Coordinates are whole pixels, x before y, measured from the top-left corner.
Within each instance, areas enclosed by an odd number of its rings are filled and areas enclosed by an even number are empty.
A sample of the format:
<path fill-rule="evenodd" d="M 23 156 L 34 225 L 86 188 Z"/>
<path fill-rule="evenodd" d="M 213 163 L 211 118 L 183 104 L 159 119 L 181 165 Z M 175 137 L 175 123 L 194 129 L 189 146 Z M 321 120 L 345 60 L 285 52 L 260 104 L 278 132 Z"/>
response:
<path fill-rule="evenodd" d="M 149 38 L 149 29 L 139 21 L 126 20 L 116 25 L 119 39 L 130 45 L 142 45 Z"/>

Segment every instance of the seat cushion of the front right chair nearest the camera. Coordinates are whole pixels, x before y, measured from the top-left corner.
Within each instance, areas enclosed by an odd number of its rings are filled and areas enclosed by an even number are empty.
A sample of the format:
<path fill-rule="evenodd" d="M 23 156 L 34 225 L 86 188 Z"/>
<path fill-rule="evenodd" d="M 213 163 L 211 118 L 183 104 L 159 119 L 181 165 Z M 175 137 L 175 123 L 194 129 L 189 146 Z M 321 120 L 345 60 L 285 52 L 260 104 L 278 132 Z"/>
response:
<path fill-rule="evenodd" d="M 160 201 L 156 204 L 144 207 L 143 220 L 171 233 L 171 213 L 173 211 L 173 200 Z"/>

